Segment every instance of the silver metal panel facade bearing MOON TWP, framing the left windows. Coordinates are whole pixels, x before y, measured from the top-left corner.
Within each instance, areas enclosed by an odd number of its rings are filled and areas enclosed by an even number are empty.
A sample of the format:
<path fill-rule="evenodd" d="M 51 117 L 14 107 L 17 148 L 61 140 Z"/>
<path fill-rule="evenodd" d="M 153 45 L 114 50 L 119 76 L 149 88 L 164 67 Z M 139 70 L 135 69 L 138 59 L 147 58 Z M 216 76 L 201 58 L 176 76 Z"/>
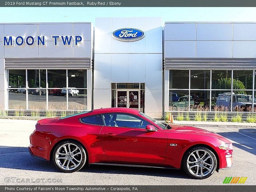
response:
<path fill-rule="evenodd" d="M 0 36 L 0 108 L 8 110 L 8 69 L 87 69 L 87 109 L 92 109 L 93 27 L 90 22 L 1 23 Z M 24 39 L 24 44 L 18 36 Z M 26 42 L 28 36 L 33 37 L 34 44 L 32 38 Z M 52 36 L 59 36 L 56 45 Z M 38 44 L 39 37 L 42 41 L 44 38 L 44 44 Z"/>

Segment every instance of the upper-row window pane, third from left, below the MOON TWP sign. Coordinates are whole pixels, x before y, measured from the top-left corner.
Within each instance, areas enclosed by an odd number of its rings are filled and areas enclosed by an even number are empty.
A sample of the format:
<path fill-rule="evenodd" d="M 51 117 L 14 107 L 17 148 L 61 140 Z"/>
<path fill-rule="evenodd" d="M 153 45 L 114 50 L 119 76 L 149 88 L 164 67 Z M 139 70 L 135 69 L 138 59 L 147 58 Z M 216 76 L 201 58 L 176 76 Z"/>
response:
<path fill-rule="evenodd" d="M 49 88 L 63 88 L 67 87 L 66 69 L 51 69 L 48 72 L 48 87 Z"/>

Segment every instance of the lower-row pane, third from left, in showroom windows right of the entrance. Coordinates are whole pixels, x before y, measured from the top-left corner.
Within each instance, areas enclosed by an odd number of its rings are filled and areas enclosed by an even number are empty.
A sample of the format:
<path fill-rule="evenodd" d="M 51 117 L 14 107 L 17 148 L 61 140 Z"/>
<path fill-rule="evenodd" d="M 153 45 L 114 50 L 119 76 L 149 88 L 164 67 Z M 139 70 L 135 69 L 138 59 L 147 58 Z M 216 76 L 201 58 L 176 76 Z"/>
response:
<path fill-rule="evenodd" d="M 230 111 L 231 108 L 231 92 L 212 90 L 212 111 Z"/>

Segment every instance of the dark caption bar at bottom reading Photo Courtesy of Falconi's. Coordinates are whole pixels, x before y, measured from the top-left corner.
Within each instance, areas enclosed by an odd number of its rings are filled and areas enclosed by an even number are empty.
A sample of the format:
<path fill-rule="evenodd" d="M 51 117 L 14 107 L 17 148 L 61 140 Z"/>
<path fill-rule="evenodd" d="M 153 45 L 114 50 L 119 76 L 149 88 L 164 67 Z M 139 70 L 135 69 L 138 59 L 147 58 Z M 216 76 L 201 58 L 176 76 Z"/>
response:
<path fill-rule="evenodd" d="M 202 182 L 203 183 L 203 182 Z M 77 186 L 77 185 L 12 185 L 12 186 L 0 186 L 1 192 L 188 192 L 188 191 L 196 191 L 196 192 L 252 192 L 255 191 L 255 186 L 249 185 L 218 185 L 218 186 L 184 186 L 184 185 L 176 185 L 176 186 L 168 186 L 168 185 L 158 185 L 158 186 L 141 186 L 141 185 L 91 185 L 91 186 Z"/>

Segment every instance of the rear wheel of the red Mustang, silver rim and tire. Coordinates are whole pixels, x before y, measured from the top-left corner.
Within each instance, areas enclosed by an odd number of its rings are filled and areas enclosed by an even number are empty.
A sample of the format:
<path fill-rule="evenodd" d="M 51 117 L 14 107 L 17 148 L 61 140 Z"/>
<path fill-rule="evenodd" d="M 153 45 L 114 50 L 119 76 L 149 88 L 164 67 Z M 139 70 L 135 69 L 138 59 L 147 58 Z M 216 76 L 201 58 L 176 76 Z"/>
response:
<path fill-rule="evenodd" d="M 84 166 L 86 152 L 79 143 L 64 141 L 54 149 L 53 162 L 62 172 L 76 172 Z"/>

